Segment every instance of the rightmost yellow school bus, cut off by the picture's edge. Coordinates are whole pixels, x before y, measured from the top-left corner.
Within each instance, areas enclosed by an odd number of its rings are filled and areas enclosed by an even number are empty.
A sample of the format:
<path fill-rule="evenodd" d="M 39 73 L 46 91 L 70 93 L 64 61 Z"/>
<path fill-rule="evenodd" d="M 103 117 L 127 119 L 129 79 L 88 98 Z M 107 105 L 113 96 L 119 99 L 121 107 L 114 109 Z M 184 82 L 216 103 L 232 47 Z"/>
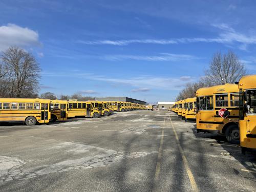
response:
<path fill-rule="evenodd" d="M 256 150 L 256 75 L 243 76 L 240 90 L 240 145 L 242 152 Z"/>

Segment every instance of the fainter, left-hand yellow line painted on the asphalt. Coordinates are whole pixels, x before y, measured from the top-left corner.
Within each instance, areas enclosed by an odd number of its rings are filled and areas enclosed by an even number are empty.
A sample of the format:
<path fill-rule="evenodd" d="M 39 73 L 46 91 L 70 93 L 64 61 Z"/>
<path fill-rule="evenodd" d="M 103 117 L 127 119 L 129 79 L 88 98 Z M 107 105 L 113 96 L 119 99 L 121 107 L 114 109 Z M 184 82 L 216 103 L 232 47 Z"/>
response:
<path fill-rule="evenodd" d="M 164 116 L 164 125 L 165 125 L 165 117 L 166 116 Z M 161 141 L 160 141 L 160 146 L 158 150 L 156 172 L 155 172 L 154 185 L 153 185 L 152 191 L 158 191 L 156 187 L 159 184 L 159 173 L 160 173 L 162 150 L 163 150 L 163 137 L 164 137 L 164 126 L 162 128 Z"/>

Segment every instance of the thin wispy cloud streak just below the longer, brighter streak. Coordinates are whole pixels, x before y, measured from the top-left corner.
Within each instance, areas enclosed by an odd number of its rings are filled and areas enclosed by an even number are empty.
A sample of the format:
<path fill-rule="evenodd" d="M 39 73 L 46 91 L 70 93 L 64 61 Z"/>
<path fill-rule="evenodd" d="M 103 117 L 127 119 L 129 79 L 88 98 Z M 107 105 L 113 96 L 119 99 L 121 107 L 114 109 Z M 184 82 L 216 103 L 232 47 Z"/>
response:
<path fill-rule="evenodd" d="M 104 60 L 144 60 L 144 61 L 181 61 L 200 59 L 194 55 L 161 53 L 159 55 L 104 55 L 100 57 Z"/>

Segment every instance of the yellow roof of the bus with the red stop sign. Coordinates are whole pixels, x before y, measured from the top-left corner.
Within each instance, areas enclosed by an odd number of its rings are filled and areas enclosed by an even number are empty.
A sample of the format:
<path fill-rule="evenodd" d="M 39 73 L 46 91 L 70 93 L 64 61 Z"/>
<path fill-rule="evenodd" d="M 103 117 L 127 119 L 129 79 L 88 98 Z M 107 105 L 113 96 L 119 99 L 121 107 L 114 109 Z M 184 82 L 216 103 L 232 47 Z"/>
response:
<path fill-rule="evenodd" d="M 219 86 L 212 86 L 209 88 L 200 88 L 196 92 L 196 96 L 212 95 L 216 93 L 232 93 L 239 92 L 237 84 L 222 84 Z"/>

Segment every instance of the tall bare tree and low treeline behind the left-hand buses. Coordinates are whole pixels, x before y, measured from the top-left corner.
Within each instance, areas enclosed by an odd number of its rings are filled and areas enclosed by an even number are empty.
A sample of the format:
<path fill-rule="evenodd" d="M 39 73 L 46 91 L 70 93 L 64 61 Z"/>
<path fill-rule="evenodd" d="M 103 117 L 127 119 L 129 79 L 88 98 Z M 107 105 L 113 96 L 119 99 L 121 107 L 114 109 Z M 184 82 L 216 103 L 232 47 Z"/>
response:
<path fill-rule="evenodd" d="M 35 57 L 18 47 L 10 47 L 0 56 L 0 98 L 44 98 L 95 100 L 94 97 L 56 95 L 46 92 L 38 95 L 41 69 Z"/>

